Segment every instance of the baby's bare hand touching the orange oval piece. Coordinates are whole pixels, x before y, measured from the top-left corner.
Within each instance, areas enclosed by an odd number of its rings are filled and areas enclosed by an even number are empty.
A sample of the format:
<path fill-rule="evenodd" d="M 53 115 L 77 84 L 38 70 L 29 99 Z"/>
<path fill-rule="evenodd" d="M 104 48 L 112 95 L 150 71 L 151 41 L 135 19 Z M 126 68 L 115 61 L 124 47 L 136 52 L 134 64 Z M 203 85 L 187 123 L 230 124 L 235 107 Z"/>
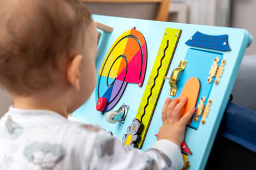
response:
<path fill-rule="evenodd" d="M 187 97 L 183 97 L 181 101 L 177 97 L 173 100 L 170 98 L 166 99 L 162 112 L 163 126 L 158 131 L 158 140 L 168 139 L 178 146 L 184 141 L 186 124 L 193 113 L 195 113 L 195 107 L 193 107 L 180 118 L 180 111 L 184 108 L 187 101 Z"/>

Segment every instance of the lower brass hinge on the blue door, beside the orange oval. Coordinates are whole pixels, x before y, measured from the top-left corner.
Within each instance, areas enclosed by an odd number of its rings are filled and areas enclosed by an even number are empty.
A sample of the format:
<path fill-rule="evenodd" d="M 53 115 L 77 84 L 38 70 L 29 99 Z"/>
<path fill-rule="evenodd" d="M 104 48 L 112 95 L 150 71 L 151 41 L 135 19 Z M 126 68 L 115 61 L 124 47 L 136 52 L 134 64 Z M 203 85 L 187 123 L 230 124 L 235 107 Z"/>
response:
<path fill-rule="evenodd" d="M 209 99 L 207 101 L 207 104 L 204 106 L 204 102 L 205 102 L 205 97 L 201 97 L 200 99 L 200 103 L 198 104 L 197 108 L 196 108 L 196 115 L 194 117 L 195 122 L 198 121 L 198 117 L 201 116 L 201 124 L 204 125 L 206 122 L 206 118 L 209 115 L 209 111 L 210 111 L 210 106 L 212 104 L 212 100 Z"/>

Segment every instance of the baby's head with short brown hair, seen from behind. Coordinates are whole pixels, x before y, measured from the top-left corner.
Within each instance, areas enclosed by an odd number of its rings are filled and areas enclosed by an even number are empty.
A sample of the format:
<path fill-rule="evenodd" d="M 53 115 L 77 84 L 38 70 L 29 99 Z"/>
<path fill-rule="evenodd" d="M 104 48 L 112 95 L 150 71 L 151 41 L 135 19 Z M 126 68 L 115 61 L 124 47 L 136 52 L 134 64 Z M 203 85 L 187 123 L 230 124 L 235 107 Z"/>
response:
<path fill-rule="evenodd" d="M 24 97 L 66 90 L 70 111 L 88 99 L 97 30 L 81 1 L 0 0 L 0 16 L 2 87 Z"/>

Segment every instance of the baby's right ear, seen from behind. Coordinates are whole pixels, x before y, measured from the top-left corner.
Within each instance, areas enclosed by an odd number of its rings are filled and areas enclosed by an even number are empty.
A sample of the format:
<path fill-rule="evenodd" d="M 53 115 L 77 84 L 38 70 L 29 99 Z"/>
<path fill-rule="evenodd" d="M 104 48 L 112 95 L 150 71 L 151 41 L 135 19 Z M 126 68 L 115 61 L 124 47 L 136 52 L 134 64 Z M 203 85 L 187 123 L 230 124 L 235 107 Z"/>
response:
<path fill-rule="evenodd" d="M 77 54 L 69 63 L 67 68 L 67 80 L 72 84 L 72 86 L 79 90 L 79 66 L 81 64 L 82 55 Z"/>

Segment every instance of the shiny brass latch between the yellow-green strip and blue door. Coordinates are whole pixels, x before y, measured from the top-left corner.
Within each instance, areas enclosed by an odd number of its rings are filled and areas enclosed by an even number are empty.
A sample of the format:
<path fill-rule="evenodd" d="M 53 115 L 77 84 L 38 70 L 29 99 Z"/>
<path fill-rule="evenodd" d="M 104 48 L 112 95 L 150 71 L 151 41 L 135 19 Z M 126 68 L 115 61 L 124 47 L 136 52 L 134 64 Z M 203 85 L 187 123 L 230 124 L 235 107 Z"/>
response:
<path fill-rule="evenodd" d="M 179 67 L 173 69 L 172 74 L 170 77 L 164 76 L 164 80 L 169 79 L 169 84 L 171 86 L 171 90 L 169 92 L 170 96 L 175 96 L 177 92 L 177 80 L 179 73 L 183 71 L 186 67 L 187 62 L 184 60 L 180 60 Z"/>

